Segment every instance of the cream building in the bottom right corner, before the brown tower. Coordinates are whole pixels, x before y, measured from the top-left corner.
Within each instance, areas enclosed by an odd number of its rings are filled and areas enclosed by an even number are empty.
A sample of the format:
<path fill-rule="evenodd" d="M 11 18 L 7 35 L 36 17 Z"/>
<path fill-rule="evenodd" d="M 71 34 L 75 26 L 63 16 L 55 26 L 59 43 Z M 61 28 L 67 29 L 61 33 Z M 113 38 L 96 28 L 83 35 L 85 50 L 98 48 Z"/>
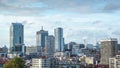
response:
<path fill-rule="evenodd" d="M 120 68 L 120 55 L 109 58 L 109 68 Z"/>

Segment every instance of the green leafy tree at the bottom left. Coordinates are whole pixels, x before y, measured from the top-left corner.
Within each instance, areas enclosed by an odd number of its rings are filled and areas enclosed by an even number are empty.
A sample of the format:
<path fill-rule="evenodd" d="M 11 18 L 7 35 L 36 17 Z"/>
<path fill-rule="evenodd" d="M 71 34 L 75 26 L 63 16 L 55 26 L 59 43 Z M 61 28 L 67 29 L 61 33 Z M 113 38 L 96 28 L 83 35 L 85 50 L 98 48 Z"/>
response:
<path fill-rule="evenodd" d="M 24 68 L 25 61 L 22 58 L 15 57 L 3 65 L 3 68 Z"/>

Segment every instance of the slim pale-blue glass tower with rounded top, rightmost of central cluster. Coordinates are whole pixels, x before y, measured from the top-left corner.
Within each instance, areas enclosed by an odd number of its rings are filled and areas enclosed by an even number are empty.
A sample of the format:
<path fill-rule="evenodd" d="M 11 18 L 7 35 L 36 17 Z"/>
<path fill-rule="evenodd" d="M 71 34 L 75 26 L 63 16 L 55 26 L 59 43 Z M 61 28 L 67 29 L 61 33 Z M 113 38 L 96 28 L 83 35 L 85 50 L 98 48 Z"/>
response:
<path fill-rule="evenodd" d="M 55 51 L 63 52 L 64 49 L 63 29 L 56 28 L 54 30 L 54 33 L 55 33 Z"/>

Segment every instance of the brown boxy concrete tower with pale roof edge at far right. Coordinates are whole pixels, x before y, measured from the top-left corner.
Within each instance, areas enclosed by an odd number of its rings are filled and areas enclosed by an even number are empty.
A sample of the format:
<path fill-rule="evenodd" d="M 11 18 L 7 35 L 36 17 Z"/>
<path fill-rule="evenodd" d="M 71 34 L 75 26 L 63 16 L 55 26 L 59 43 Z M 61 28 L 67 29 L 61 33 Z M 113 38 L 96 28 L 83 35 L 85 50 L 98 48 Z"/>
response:
<path fill-rule="evenodd" d="M 109 58 L 114 57 L 117 52 L 117 39 L 101 40 L 101 64 L 109 64 Z"/>

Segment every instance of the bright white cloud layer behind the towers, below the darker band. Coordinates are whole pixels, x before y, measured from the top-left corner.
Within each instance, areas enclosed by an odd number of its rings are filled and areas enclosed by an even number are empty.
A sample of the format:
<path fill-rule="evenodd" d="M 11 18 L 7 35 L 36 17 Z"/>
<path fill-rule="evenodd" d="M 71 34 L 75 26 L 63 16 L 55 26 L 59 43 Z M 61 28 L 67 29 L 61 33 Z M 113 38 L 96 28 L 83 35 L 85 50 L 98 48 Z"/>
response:
<path fill-rule="evenodd" d="M 25 44 L 36 45 L 36 31 L 48 30 L 54 34 L 54 28 L 63 27 L 65 42 L 83 42 L 83 37 L 87 37 L 88 42 L 93 43 L 95 39 L 109 37 L 109 31 L 113 37 L 119 37 L 120 26 L 119 16 L 116 14 L 52 14 L 43 16 L 14 16 L 0 15 L 0 45 L 9 45 L 9 27 L 12 22 L 22 22 L 25 26 Z M 34 42 L 33 42 L 34 41 Z"/>

